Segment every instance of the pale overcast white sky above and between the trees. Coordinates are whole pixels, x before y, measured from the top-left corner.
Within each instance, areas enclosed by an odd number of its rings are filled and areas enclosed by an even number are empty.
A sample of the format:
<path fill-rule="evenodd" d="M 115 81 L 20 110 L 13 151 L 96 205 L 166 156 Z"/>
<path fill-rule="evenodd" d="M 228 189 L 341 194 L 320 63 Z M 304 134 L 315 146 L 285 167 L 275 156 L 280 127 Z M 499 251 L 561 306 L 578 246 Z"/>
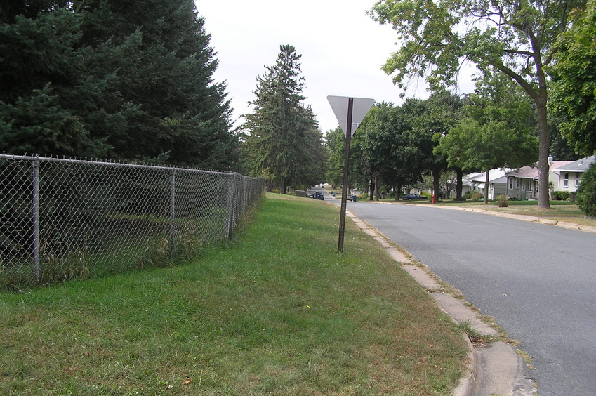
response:
<path fill-rule="evenodd" d="M 206 33 L 219 67 L 213 76 L 226 81 L 236 126 L 241 114 L 251 112 L 256 77 L 277 60 L 279 46 L 291 44 L 300 58 L 305 78 L 303 95 L 325 134 L 337 119 L 327 95 L 372 98 L 378 103 L 402 103 L 402 92 L 381 70 L 397 50 L 397 34 L 378 25 L 366 11 L 374 0 L 195 0 L 205 18 Z M 469 79 L 468 79 L 469 80 Z M 464 82 L 465 84 L 465 82 Z M 468 91 L 471 85 L 468 84 Z M 427 98 L 420 80 L 408 96 Z"/>

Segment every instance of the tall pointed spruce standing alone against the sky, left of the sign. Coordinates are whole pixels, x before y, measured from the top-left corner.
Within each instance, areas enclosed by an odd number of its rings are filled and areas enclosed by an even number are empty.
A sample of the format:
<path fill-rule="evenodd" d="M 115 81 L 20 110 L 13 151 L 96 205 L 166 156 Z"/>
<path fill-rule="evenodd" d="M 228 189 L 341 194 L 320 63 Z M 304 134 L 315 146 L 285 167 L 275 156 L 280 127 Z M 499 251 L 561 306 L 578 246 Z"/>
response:
<path fill-rule="evenodd" d="M 243 126 L 244 152 L 253 176 L 272 176 L 273 187 L 286 193 L 286 187 L 304 187 L 324 180 L 326 151 L 314 113 L 302 101 L 304 77 L 300 58 L 291 45 L 280 46 L 275 65 L 257 77 Z"/>

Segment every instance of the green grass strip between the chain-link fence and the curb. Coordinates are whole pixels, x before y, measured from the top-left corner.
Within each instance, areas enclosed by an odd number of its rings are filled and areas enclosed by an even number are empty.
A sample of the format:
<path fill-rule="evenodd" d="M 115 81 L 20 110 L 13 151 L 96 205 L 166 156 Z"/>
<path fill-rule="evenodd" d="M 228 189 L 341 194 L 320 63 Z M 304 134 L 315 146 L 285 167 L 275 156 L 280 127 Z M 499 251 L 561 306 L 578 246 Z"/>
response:
<path fill-rule="evenodd" d="M 0 394 L 450 395 L 463 332 L 338 215 L 269 194 L 189 265 L 0 294 Z"/>

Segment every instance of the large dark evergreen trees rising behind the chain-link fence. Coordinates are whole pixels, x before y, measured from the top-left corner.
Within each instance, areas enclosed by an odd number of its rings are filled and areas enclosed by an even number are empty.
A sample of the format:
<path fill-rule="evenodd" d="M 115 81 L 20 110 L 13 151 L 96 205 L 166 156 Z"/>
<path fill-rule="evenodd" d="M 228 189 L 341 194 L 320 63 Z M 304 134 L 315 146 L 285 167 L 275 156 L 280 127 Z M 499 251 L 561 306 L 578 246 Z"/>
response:
<path fill-rule="evenodd" d="M 218 61 L 192 0 L 4 2 L 6 152 L 237 162 Z"/>

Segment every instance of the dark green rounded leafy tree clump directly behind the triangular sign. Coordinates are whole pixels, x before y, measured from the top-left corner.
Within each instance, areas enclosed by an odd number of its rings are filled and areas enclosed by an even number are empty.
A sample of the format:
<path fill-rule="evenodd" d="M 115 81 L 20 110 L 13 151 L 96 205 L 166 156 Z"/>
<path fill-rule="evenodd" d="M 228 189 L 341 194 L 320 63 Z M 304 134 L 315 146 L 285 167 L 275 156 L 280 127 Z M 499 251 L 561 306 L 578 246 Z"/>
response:
<path fill-rule="evenodd" d="M 424 100 L 407 98 L 401 106 L 375 105 L 351 140 L 350 183 L 366 188 L 370 199 L 373 194 L 378 199 L 383 188 L 394 190 L 399 199 L 402 189 L 415 186 L 432 173 L 438 191 L 446 160 L 442 153 L 433 152 L 438 144 L 434 136 L 449 131 L 460 109 L 461 99 L 446 91 L 432 93 Z M 340 180 L 345 139 L 338 128 L 329 131 L 327 141 L 333 166 L 329 175 Z"/>

